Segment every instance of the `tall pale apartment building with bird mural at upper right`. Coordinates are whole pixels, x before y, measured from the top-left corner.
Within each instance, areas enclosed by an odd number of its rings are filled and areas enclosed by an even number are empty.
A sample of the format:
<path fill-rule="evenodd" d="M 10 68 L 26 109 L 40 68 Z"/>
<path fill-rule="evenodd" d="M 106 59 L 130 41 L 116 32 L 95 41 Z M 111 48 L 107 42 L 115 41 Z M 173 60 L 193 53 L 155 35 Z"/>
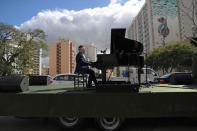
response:
<path fill-rule="evenodd" d="M 145 52 L 192 35 L 192 0 L 146 0 L 128 29 L 128 37 L 144 44 Z"/>

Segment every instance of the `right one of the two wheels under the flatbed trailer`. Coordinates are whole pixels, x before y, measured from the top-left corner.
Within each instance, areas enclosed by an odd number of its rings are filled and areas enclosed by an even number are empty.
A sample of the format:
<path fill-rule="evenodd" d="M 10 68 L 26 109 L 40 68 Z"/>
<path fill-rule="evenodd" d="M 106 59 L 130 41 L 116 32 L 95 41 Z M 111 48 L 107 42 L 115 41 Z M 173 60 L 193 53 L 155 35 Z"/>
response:
<path fill-rule="evenodd" d="M 122 122 L 123 119 L 119 117 L 100 117 L 96 119 L 97 125 L 103 131 L 117 131 L 120 128 Z"/>

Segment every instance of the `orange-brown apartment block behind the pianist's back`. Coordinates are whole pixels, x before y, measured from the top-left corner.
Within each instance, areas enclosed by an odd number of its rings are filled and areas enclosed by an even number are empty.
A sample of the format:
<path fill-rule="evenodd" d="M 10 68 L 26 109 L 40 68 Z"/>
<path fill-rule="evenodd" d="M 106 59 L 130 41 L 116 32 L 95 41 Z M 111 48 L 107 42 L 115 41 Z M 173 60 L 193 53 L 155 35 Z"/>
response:
<path fill-rule="evenodd" d="M 70 40 L 60 39 L 49 45 L 49 74 L 73 73 L 75 69 L 75 45 Z"/>

